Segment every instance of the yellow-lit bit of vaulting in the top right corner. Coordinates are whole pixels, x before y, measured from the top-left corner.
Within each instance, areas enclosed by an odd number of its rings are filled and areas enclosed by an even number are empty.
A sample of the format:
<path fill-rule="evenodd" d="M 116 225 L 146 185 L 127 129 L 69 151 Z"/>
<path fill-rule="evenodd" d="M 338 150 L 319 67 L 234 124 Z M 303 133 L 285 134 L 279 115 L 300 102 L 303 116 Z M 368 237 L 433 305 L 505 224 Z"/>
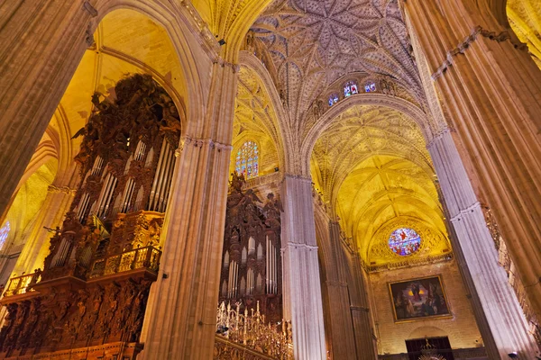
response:
<path fill-rule="evenodd" d="M 518 39 L 527 43 L 532 58 L 541 68 L 541 1 L 508 0 L 507 14 Z"/>

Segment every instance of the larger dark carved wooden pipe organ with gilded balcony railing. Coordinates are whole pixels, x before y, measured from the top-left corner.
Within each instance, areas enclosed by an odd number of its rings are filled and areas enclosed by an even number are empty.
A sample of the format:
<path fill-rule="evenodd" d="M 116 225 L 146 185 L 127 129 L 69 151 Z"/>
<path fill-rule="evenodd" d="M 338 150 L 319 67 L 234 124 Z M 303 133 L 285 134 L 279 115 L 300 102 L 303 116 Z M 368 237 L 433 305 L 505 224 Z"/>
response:
<path fill-rule="evenodd" d="M 130 360 L 142 349 L 181 121 L 151 76 L 124 78 L 114 94 L 94 94 L 92 115 L 75 135 L 83 136 L 75 157 L 81 182 L 43 269 L 6 288 L 0 359 Z"/>

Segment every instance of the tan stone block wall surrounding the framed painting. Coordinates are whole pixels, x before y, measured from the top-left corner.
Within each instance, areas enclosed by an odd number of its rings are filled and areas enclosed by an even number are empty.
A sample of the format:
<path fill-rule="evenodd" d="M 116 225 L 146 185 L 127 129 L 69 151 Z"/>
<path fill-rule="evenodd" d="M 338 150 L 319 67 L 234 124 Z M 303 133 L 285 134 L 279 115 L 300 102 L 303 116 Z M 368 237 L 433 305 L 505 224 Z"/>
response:
<path fill-rule="evenodd" d="M 451 319 L 414 320 L 395 323 L 389 283 L 441 275 Z M 369 296 L 374 309 L 378 351 L 382 354 L 406 353 L 405 340 L 412 338 L 448 337 L 453 348 L 481 346 L 481 334 L 473 318 L 461 275 L 454 260 L 426 266 L 415 266 L 371 273 Z M 476 342 L 477 341 L 477 342 Z"/>

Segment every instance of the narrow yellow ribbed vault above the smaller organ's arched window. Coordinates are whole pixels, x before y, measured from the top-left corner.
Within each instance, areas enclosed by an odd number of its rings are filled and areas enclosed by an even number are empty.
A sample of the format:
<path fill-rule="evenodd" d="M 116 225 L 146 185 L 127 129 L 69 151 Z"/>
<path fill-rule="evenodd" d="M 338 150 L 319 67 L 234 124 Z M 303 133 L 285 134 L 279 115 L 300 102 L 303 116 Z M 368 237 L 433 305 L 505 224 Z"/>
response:
<path fill-rule="evenodd" d="M 241 67 L 234 111 L 232 171 L 236 151 L 247 140 L 254 140 L 260 146 L 260 175 L 273 172 L 280 163 L 281 140 L 276 113 L 260 77 L 252 69 Z"/>

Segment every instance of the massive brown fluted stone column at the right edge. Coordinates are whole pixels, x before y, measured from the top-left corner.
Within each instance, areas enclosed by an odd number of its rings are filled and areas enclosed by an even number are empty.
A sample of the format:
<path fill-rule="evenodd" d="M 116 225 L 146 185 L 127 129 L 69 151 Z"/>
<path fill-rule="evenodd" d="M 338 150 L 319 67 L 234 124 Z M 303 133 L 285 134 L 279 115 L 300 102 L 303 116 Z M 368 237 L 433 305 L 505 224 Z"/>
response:
<path fill-rule="evenodd" d="M 541 317 L 541 72 L 489 3 L 403 1 L 470 177 Z"/>

